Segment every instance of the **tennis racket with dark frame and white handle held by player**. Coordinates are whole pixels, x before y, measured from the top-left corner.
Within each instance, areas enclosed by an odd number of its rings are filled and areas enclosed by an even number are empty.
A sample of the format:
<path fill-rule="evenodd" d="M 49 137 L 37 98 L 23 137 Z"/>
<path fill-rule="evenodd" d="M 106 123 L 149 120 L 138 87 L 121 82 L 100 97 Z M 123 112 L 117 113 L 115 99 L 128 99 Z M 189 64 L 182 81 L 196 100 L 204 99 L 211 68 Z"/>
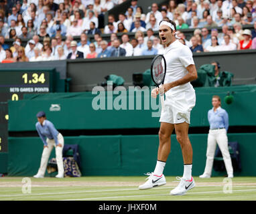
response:
<path fill-rule="evenodd" d="M 151 62 L 151 78 L 157 88 L 164 84 L 166 77 L 166 59 L 162 54 L 155 56 Z M 164 109 L 164 95 L 160 96 L 162 109 Z"/>

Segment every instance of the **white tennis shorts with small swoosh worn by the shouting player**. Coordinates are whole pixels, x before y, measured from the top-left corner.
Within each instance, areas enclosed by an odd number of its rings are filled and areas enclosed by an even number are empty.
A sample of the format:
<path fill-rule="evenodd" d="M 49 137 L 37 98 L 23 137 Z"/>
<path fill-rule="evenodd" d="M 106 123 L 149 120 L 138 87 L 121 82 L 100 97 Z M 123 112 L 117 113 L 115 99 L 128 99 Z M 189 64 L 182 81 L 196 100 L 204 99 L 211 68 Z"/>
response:
<path fill-rule="evenodd" d="M 186 122 L 190 124 L 190 112 L 195 104 L 196 93 L 194 91 L 168 95 L 164 101 L 164 110 L 162 109 L 159 122 L 170 124 Z"/>

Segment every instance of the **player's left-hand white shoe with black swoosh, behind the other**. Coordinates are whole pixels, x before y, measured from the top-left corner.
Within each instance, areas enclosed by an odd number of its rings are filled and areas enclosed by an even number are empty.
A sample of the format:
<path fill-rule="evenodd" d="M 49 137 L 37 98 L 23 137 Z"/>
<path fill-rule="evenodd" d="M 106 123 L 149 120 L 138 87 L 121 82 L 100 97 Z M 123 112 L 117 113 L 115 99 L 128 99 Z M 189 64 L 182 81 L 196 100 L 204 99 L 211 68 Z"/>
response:
<path fill-rule="evenodd" d="M 139 189 L 151 189 L 153 187 L 158 187 L 162 185 L 166 185 L 166 177 L 164 177 L 164 174 L 158 176 L 153 175 L 153 173 L 147 173 L 145 175 L 148 175 L 147 180 L 143 185 L 139 186 Z"/>

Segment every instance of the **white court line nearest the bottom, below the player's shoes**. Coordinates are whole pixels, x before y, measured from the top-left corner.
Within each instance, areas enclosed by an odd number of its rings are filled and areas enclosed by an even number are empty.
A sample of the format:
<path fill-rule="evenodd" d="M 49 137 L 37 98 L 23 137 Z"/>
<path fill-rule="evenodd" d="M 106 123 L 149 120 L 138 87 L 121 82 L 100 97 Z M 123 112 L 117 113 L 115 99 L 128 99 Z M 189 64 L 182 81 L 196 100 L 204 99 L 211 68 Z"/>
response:
<path fill-rule="evenodd" d="M 242 192 L 242 191 L 256 191 L 256 189 L 233 190 L 233 192 Z M 223 193 L 223 191 L 207 191 L 207 192 L 186 193 L 186 195 L 205 194 L 205 193 Z M 118 199 L 118 198 L 127 198 L 127 197 L 151 197 L 151 196 L 155 196 L 155 195 L 170 195 L 170 194 L 123 195 L 123 196 L 97 197 L 97 198 L 86 198 L 86 199 L 65 199 L 65 200 L 58 200 L 58 201 L 86 201 L 86 200 L 99 200 L 99 199 Z"/>

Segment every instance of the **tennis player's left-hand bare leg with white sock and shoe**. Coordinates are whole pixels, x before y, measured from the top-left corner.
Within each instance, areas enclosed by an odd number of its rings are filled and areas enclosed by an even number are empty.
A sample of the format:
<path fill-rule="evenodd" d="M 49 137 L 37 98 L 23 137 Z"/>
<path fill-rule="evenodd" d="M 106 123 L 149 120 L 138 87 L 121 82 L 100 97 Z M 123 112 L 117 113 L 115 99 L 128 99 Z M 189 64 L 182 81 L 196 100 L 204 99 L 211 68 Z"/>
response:
<path fill-rule="evenodd" d="M 159 146 L 157 152 L 157 163 L 153 173 L 149 173 L 147 182 L 139 186 L 139 189 L 150 189 L 153 187 L 166 185 L 166 178 L 164 177 L 164 167 L 166 160 L 170 154 L 171 149 L 171 134 L 174 130 L 174 124 L 161 122 L 159 129 Z"/>

